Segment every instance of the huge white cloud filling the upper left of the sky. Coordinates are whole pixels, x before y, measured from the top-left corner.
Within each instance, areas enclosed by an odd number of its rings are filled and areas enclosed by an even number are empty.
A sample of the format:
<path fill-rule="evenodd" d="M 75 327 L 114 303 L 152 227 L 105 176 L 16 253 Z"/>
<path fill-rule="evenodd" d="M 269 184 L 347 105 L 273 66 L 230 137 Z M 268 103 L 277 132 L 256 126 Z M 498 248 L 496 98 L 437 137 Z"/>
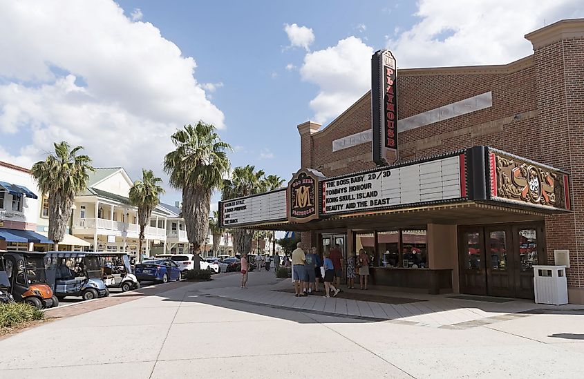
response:
<path fill-rule="evenodd" d="M 95 166 L 161 173 L 176 128 L 224 127 L 194 59 L 113 1 L 2 2 L 0 35 L 0 156 L 28 139 L 14 162 L 42 159 L 65 139 Z"/>

